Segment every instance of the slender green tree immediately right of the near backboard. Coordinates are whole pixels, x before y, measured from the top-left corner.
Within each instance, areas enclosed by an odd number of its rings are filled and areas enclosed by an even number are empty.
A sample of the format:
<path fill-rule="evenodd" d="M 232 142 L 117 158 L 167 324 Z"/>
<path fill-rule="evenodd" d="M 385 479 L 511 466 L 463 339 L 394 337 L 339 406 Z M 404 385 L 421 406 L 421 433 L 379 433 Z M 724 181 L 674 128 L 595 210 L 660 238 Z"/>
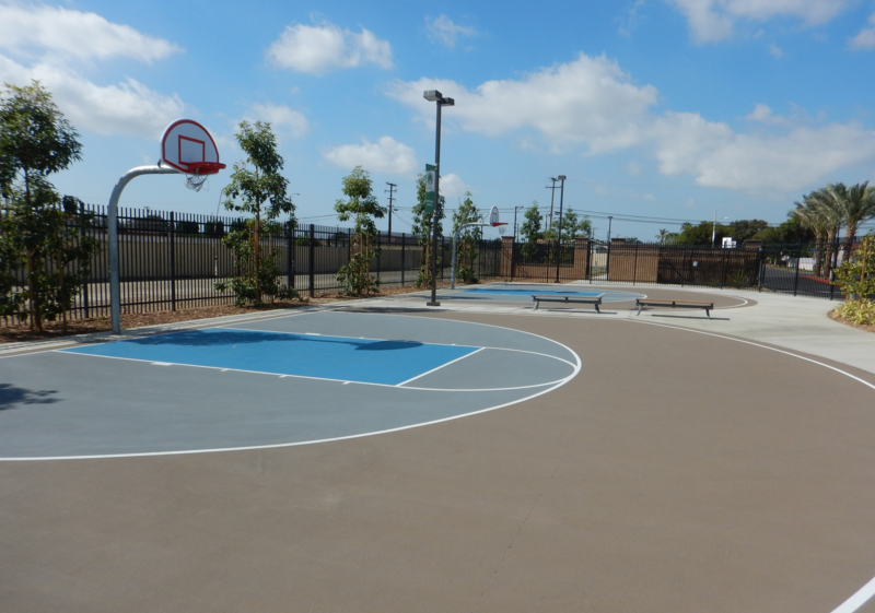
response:
<path fill-rule="evenodd" d="M 294 297 L 294 290 L 279 284 L 279 254 L 267 245 L 262 255 L 262 235 L 279 234 L 282 225 L 276 220 L 282 213 L 292 214 L 294 203 L 288 196 L 289 181 L 280 175 L 282 156 L 277 152 L 277 138 L 270 123 L 247 121 L 240 123 L 234 134 L 246 154 L 246 160 L 234 164 L 231 182 L 222 190 L 224 207 L 229 211 L 249 213 L 241 226 L 233 227 L 222 243 L 234 252 L 237 274 L 215 284 L 225 292 L 233 290 L 237 305 L 248 303 L 260 306 L 265 294 L 272 298 Z"/>

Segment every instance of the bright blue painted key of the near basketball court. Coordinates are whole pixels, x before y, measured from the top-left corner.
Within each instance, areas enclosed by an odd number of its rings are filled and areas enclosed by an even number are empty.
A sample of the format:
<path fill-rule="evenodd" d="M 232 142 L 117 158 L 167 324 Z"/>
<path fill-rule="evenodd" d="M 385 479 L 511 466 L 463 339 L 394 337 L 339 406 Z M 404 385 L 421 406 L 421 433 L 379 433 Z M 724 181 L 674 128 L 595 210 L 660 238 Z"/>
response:
<path fill-rule="evenodd" d="M 63 352 L 394 386 L 478 349 L 211 328 Z"/>

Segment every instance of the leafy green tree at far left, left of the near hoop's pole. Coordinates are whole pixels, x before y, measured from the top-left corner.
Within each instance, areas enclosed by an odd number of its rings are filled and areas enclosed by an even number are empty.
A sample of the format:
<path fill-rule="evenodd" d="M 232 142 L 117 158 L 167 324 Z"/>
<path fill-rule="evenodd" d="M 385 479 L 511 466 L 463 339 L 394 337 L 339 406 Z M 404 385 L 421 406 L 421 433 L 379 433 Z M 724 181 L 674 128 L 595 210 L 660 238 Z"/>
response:
<path fill-rule="evenodd" d="M 86 216 L 74 199 L 61 201 L 48 176 L 82 158 L 79 133 L 38 81 L 7 85 L 0 98 L 0 315 L 30 319 L 65 317 L 89 275 L 96 241 L 80 239 Z M 24 291 L 15 273 L 25 272 Z"/>

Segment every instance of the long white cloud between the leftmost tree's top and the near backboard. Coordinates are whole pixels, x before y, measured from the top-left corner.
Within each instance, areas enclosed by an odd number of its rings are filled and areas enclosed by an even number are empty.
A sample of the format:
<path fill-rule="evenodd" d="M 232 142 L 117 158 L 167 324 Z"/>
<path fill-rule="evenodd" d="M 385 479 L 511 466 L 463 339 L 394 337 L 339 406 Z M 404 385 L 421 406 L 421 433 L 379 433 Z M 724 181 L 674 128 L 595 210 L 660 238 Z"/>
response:
<path fill-rule="evenodd" d="M 67 68 L 25 68 L 0 56 L 0 82 L 24 85 L 33 79 L 51 92 L 61 113 L 77 129 L 98 134 L 158 139 L 185 109 L 178 96 L 160 94 L 133 79 L 96 85 Z"/>

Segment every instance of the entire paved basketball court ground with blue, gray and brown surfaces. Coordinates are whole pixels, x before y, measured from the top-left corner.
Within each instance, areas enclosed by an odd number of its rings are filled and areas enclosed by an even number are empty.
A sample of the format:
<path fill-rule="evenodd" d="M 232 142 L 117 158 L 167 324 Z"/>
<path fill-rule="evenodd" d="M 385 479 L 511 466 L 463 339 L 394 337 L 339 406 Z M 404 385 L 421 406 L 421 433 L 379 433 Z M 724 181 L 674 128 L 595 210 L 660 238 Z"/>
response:
<path fill-rule="evenodd" d="M 4 610 L 875 611 L 872 370 L 466 290 L 0 358 Z"/>

